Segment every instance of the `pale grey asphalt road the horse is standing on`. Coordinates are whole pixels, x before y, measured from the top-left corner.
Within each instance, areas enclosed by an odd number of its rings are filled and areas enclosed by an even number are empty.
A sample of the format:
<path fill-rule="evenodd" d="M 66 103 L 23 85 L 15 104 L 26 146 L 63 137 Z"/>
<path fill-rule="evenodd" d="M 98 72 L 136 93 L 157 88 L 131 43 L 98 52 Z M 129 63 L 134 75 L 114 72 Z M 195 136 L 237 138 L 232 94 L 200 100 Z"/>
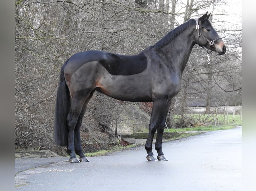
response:
<path fill-rule="evenodd" d="M 15 159 L 15 190 L 240 191 L 241 131 L 240 126 L 165 142 L 168 161 L 147 161 L 144 146 L 83 163 Z"/>

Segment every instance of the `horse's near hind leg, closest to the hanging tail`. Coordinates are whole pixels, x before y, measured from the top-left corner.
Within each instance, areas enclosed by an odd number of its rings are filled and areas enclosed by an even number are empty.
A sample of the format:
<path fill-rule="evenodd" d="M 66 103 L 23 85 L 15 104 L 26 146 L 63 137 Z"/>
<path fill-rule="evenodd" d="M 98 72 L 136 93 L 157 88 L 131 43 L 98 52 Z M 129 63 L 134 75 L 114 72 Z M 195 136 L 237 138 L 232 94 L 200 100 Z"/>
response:
<path fill-rule="evenodd" d="M 80 162 L 77 159 L 76 154 L 75 154 L 74 130 L 77 125 L 78 117 L 81 114 L 82 107 L 83 107 L 86 99 L 90 96 L 90 94 L 91 94 L 91 91 L 89 91 L 89 90 L 80 90 L 73 94 L 71 107 L 69 110 L 69 114 L 67 116 L 67 124 L 68 124 L 67 125 L 67 131 L 68 131 L 67 151 L 70 155 L 70 162 Z M 81 126 L 81 124 L 80 124 L 80 126 Z"/>

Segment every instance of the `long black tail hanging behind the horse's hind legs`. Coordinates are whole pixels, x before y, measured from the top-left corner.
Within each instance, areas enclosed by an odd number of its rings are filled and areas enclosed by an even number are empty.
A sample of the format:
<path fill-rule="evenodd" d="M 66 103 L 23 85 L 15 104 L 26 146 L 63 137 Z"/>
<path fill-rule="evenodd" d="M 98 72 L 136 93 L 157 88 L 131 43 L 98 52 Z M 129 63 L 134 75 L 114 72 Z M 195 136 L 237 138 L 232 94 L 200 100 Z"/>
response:
<path fill-rule="evenodd" d="M 71 100 L 70 92 L 64 78 L 64 68 L 69 60 L 61 67 L 59 77 L 59 87 L 57 91 L 55 105 L 55 121 L 54 121 L 54 141 L 56 145 L 67 146 L 67 116 L 69 113 Z"/>

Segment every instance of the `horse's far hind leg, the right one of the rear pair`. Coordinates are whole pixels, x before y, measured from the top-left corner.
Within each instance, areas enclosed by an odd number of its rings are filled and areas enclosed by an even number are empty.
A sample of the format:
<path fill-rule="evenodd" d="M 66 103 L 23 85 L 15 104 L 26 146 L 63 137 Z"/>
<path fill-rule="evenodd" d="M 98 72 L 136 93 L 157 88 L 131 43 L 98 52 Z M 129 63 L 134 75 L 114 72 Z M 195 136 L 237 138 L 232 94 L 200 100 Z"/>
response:
<path fill-rule="evenodd" d="M 74 130 L 75 153 L 79 155 L 80 162 L 89 162 L 89 159 L 84 155 L 83 150 L 82 150 L 80 127 L 82 125 L 82 121 L 83 121 L 83 117 L 86 112 L 87 105 L 88 105 L 90 99 L 92 98 L 93 93 L 94 92 L 92 92 L 90 94 L 90 96 L 86 99 L 86 101 L 82 107 L 81 113 L 77 119 L 77 124 L 76 124 L 75 130 Z"/>

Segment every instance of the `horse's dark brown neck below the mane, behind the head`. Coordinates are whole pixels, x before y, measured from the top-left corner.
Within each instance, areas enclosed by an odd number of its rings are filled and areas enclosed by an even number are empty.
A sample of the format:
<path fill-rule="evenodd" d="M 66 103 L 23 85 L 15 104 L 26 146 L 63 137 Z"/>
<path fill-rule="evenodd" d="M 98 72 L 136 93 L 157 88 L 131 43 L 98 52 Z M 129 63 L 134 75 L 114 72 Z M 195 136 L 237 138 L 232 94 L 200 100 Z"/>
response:
<path fill-rule="evenodd" d="M 175 37 L 171 42 L 161 48 L 168 60 L 169 67 L 179 70 L 182 74 L 191 51 L 196 44 L 195 39 L 191 38 L 193 29 L 186 29 Z"/>

